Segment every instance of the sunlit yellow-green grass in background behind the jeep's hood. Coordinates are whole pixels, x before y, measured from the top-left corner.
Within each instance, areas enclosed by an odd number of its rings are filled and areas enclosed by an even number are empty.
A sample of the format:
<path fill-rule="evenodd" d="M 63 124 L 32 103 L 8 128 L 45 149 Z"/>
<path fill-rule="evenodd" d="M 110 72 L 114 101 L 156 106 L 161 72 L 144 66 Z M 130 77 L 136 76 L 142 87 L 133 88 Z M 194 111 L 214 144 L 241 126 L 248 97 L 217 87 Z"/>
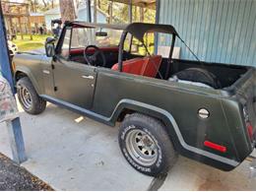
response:
<path fill-rule="evenodd" d="M 31 35 L 24 35 L 24 39 L 22 39 L 21 35 L 18 35 L 13 42 L 18 46 L 19 51 L 30 51 L 43 48 L 45 39 L 48 36 L 47 34 L 34 34 L 31 40 Z"/>

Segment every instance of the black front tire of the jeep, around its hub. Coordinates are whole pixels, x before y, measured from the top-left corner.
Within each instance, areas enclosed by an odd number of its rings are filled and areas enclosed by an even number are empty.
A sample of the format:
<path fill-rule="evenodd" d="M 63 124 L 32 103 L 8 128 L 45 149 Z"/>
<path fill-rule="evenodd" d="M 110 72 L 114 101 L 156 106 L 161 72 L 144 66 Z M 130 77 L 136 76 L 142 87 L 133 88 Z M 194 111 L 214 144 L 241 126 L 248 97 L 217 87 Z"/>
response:
<path fill-rule="evenodd" d="M 23 89 L 26 89 L 30 94 L 30 105 L 26 104 L 24 101 L 24 96 L 22 96 Z M 37 95 L 36 91 L 32 86 L 32 82 L 28 77 L 24 77 L 20 79 L 17 83 L 17 94 L 19 101 L 23 107 L 23 109 L 30 114 L 40 114 L 44 111 L 46 107 L 46 101 Z"/>

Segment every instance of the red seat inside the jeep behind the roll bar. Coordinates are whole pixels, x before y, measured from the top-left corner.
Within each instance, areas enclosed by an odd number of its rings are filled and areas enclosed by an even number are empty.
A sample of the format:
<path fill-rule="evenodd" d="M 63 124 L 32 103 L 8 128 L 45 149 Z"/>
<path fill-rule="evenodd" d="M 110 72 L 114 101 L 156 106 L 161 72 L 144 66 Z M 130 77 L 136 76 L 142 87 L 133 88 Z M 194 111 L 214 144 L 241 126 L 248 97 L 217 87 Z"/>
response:
<path fill-rule="evenodd" d="M 160 55 L 130 59 L 123 62 L 123 72 L 155 78 L 160 69 L 160 63 Z M 118 71 L 118 63 L 112 67 L 112 70 Z"/>

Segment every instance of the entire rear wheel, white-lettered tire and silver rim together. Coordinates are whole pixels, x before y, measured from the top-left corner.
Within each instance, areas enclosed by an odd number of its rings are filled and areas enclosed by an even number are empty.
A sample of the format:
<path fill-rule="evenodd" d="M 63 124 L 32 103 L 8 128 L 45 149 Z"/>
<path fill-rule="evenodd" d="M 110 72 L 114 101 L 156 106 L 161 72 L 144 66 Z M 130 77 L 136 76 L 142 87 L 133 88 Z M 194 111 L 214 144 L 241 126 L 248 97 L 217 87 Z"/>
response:
<path fill-rule="evenodd" d="M 166 173 L 177 158 L 164 125 L 158 119 L 140 113 L 126 117 L 122 122 L 119 146 L 135 169 L 151 176 Z"/>

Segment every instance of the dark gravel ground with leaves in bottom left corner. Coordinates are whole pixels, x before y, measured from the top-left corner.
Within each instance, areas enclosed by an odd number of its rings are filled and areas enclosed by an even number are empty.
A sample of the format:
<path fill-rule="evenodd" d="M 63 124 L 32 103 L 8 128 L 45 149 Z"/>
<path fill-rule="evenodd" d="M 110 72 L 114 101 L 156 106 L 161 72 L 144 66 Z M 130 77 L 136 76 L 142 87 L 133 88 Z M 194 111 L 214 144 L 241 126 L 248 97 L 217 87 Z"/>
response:
<path fill-rule="evenodd" d="M 0 154 L 0 191 L 52 191 L 46 183 L 25 168 Z"/>

